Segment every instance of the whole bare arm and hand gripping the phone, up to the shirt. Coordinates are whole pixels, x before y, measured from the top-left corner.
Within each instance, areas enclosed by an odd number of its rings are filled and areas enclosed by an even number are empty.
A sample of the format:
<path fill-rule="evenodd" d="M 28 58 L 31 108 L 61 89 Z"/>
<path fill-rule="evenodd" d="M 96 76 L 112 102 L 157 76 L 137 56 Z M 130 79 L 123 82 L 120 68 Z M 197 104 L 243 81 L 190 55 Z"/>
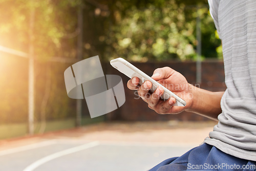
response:
<path fill-rule="evenodd" d="M 139 96 L 148 103 L 148 108 L 159 114 L 176 114 L 188 111 L 217 120 L 221 113 L 220 101 L 224 92 L 210 92 L 192 86 L 183 75 L 169 67 L 156 69 L 152 78 L 184 99 L 187 104 L 184 107 L 173 106 L 176 102 L 173 97 L 163 101 L 160 99 L 163 94 L 161 87 L 149 94 L 148 91 L 151 89 L 152 83 L 145 81 L 141 86 L 138 86 L 139 78 L 134 77 L 127 82 L 127 87 L 131 90 L 138 90 Z"/>

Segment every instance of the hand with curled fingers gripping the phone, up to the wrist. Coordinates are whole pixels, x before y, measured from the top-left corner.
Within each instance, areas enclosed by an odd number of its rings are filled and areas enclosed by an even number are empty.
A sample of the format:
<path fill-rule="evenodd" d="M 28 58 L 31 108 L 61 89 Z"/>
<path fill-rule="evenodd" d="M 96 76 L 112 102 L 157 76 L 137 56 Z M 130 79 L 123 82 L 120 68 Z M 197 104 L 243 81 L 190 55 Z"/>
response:
<path fill-rule="evenodd" d="M 165 101 L 162 100 L 160 97 L 164 91 L 161 87 L 158 87 L 154 93 L 150 94 L 148 91 L 151 89 L 152 83 L 145 81 L 139 86 L 138 77 L 130 79 L 127 82 L 127 87 L 131 90 L 138 90 L 139 96 L 148 103 L 148 108 L 155 110 L 159 114 L 176 114 L 190 108 L 193 101 L 192 86 L 183 75 L 169 67 L 164 67 L 156 69 L 152 78 L 185 100 L 186 106 L 173 106 L 176 102 L 174 97 L 170 97 Z"/>

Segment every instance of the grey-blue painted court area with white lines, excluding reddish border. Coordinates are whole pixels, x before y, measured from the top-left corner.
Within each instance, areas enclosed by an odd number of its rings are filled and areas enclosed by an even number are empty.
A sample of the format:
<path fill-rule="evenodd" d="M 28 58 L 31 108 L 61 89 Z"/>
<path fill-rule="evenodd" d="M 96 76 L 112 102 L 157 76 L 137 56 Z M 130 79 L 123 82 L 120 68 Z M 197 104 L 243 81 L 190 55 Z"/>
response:
<path fill-rule="evenodd" d="M 194 146 L 42 139 L 0 151 L 0 170 L 147 170 Z"/>

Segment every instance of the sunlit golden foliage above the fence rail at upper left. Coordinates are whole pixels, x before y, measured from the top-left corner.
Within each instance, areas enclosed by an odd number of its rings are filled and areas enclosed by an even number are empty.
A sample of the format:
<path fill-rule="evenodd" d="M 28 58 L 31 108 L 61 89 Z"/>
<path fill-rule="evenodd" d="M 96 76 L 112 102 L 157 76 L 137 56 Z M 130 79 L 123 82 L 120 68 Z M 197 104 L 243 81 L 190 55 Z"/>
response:
<path fill-rule="evenodd" d="M 39 60 L 51 56 L 74 56 L 76 41 L 69 37 L 75 32 L 77 20 L 73 16 L 79 1 L 22 1 L 0 2 L 0 45 L 28 52 L 32 32 L 34 53 Z M 31 19 L 31 11 L 34 17 Z M 30 30 L 33 25 L 33 30 Z M 69 49 L 67 49 L 69 47 Z"/>

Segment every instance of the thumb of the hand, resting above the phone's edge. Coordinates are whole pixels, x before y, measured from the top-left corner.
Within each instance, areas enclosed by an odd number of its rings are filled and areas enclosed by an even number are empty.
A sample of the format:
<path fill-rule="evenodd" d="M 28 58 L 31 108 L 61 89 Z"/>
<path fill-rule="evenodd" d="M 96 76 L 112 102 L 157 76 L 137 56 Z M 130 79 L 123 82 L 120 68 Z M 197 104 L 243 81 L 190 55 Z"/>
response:
<path fill-rule="evenodd" d="M 174 73 L 175 73 L 175 70 L 169 67 L 158 68 L 154 71 L 152 78 L 155 79 L 156 81 L 159 81 L 161 79 L 166 79 L 170 77 Z"/>

